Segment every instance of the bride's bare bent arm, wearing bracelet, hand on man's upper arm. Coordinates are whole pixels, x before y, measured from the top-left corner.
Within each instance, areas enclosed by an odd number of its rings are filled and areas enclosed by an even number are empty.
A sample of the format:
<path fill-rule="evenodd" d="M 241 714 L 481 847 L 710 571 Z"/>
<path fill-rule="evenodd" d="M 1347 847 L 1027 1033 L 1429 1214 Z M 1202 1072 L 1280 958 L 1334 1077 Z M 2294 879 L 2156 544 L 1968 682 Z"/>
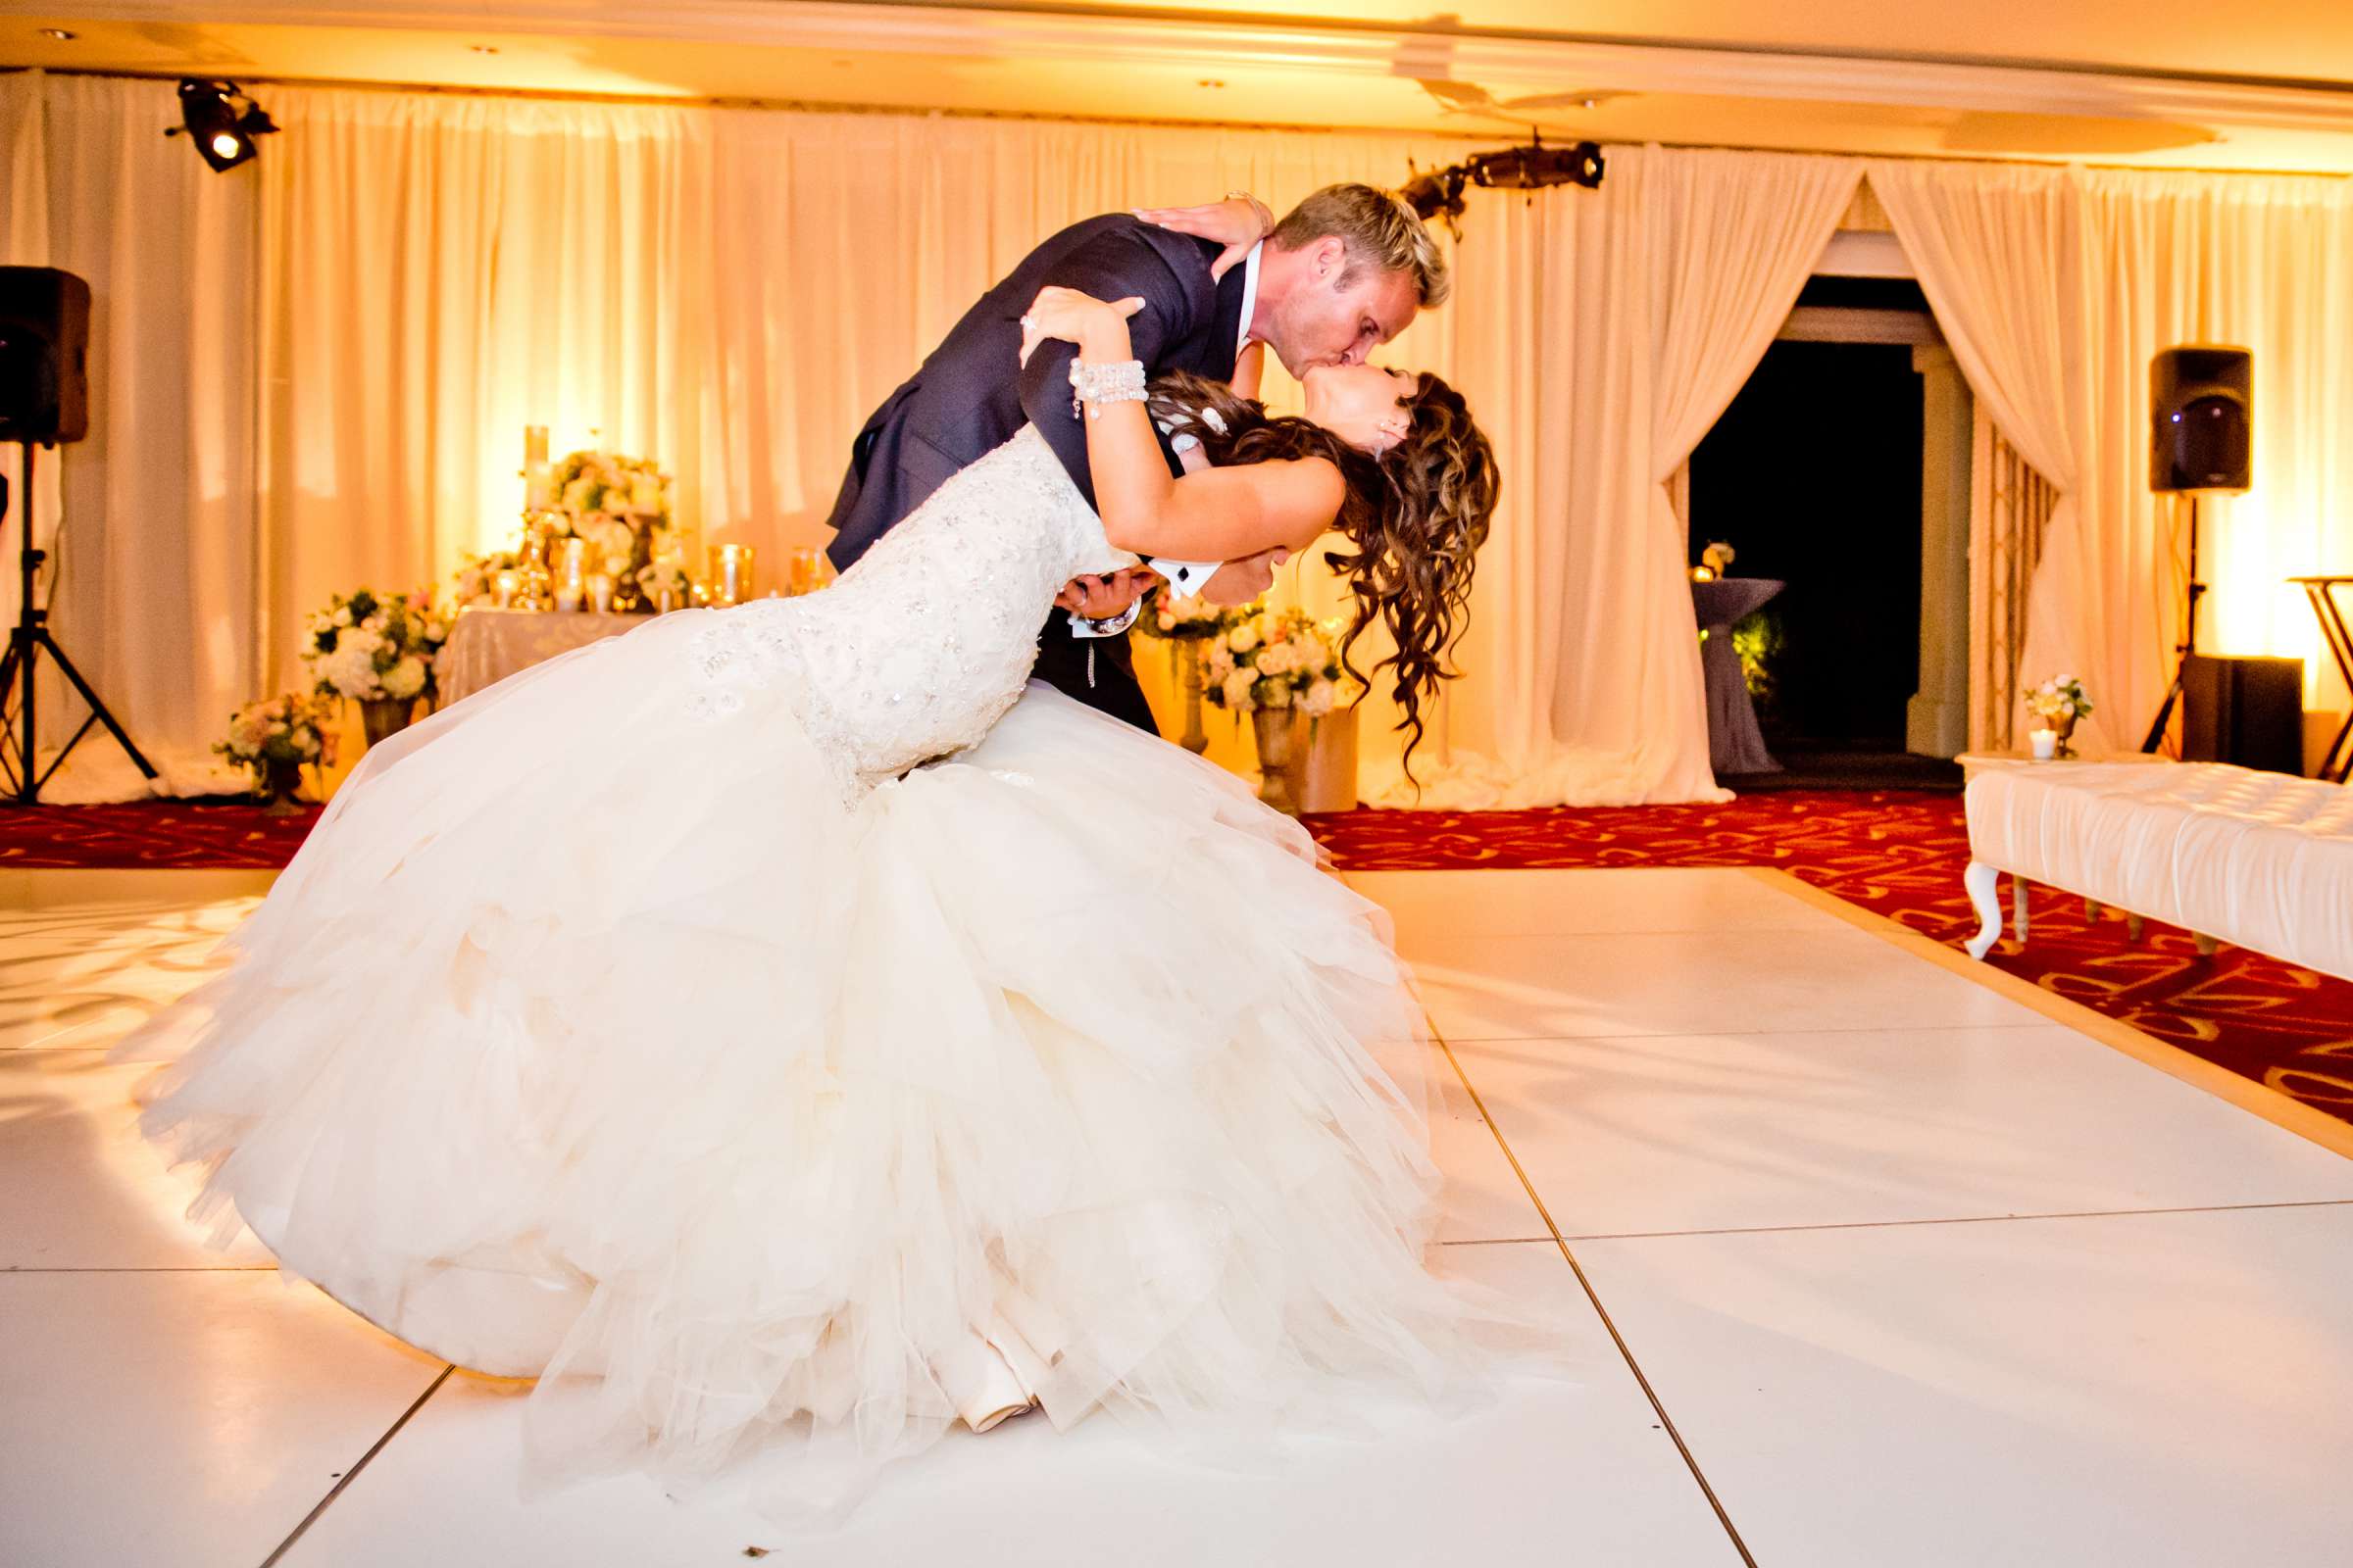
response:
<path fill-rule="evenodd" d="M 1127 317 L 1141 301 L 1106 306 L 1045 289 L 1024 317 L 1024 353 L 1042 339 L 1078 343 L 1085 364 L 1132 360 Z M 1322 458 L 1240 463 L 1169 477 L 1153 421 L 1136 400 L 1087 407 L 1087 468 L 1104 536 L 1120 550 L 1186 562 L 1231 562 L 1261 550 L 1304 550 L 1346 498 Z"/>

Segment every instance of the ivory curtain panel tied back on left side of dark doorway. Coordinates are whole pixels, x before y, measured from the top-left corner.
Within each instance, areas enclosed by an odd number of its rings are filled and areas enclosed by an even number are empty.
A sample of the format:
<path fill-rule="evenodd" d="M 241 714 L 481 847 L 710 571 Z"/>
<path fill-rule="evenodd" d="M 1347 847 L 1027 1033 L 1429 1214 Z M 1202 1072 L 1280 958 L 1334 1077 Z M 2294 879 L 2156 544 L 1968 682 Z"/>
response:
<path fill-rule="evenodd" d="M 1506 454 L 1508 517 L 1480 557 L 1468 679 L 1433 731 L 1424 804 L 1732 799 L 1708 771 L 1668 482 L 1765 355 L 1859 174 L 1624 146 L 1591 195 L 1473 207 L 1447 317 Z M 1391 766 L 1367 785 L 1412 799 Z"/>

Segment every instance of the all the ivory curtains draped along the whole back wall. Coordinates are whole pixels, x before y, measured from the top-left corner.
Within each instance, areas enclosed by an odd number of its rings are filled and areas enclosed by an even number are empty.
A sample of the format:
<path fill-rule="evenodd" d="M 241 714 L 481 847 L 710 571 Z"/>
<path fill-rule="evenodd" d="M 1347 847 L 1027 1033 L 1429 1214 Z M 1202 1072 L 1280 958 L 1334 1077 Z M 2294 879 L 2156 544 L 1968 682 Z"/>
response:
<path fill-rule="evenodd" d="M 0 259 L 99 296 L 94 435 L 45 468 L 68 503 L 56 623 L 158 752 L 289 684 L 329 590 L 438 581 L 501 543 L 525 423 L 664 458 L 706 538 L 821 543 L 856 421 L 1035 237 L 1228 186 L 1280 207 L 1461 150 L 266 99 L 285 134 L 216 176 L 162 139 L 169 82 L 0 78 Z M 1475 195 L 1457 301 L 1388 355 L 1464 386 L 1506 470 L 1466 679 L 1417 759 L 1428 804 L 1720 799 L 1664 482 L 1762 353 L 1854 167 L 1624 146 L 1598 193 Z M 2212 508 L 2209 644 L 2318 665 L 2278 578 L 2353 543 L 2348 186 L 2002 165 L 1873 165 L 1873 183 L 1979 397 L 2064 496 L 2026 672 L 2092 682 L 2094 743 L 2134 743 L 2155 705 L 2174 595 L 2139 388 L 2148 353 L 2188 336 L 2249 341 L 2259 376 L 2259 489 Z M 1287 590 L 1332 607 L 1318 574 L 1311 557 Z M 1367 712 L 1365 780 L 1402 799 L 1388 719 Z"/>

